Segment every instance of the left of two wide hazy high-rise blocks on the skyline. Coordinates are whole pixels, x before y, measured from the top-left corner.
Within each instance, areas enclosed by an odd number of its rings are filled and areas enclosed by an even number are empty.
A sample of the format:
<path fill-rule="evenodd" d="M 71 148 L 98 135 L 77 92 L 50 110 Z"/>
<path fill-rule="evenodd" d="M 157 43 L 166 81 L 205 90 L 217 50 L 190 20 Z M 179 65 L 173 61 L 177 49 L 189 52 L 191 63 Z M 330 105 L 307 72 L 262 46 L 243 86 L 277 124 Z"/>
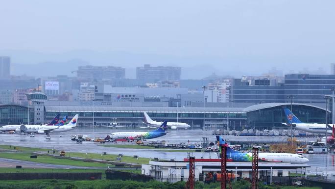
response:
<path fill-rule="evenodd" d="M 115 66 L 79 66 L 77 71 L 78 78 L 90 80 L 111 80 L 124 79 L 125 69 Z"/>

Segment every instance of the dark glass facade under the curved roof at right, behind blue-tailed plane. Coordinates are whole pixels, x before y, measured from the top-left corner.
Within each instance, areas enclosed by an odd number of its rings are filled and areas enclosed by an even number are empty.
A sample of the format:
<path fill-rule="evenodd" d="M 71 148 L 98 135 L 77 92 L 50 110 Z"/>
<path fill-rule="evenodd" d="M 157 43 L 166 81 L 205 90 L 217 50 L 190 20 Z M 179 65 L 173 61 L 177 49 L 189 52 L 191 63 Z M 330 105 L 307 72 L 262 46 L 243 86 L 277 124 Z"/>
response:
<path fill-rule="evenodd" d="M 287 129 L 282 123 L 287 122 L 283 108 L 291 109 L 290 105 L 263 108 L 247 112 L 247 126 L 261 129 Z M 292 112 L 304 123 L 325 123 L 326 111 L 305 105 L 292 105 Z M 329 122 L 328 122 L 329 123 Z"/>

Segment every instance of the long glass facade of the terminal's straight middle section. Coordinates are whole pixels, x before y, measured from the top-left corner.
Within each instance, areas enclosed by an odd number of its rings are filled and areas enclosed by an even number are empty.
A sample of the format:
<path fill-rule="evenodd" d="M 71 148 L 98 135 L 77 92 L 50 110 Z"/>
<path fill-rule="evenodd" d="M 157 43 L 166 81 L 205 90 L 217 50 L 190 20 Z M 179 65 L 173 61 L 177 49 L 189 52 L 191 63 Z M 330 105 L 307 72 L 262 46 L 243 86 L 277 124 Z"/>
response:
<path fill-rule="evenodd" d="M 83 110 L 84 111 L 84 110 Z M 93 124 L 93 112 L 46 112 L 46 120 L 51 120 L 56 113 L 60 113 L 61 117 L 68 115 L 73 117 L 75 114 L 79 115 L 78 125 L 81 126 L 90 126 Z M 157 121 L 168 120 L 171 122 L 176 122 L 177 112 L 147 112 L 148 115 Z M 135 126 L 144 126 L 142 123 L 144 121 L 143 112 L 139 111 L 121 111 L 121 112 L 99 112 L 94 113 L 96 125 L 107 125 L 110 122 L 113 122 L 113 118 L 120 118 L 120 125 L 135 125 Z M 203 125 L 203 113 L 198 112 L 178 112 L 178 120 L 180 122 L 188 123 L 190 125 L 201 127 Z M 246 123 L 246 114 L 245 113 L 229 113 L 229 126 L 231 129 L 234 127 L 239 129 L 245 126 Z M 227 113 L 224 112 L 215 112 L 215 113 L 205 113 L 205 125 L 207 128 L 226 128 L 227 126 Z"/>

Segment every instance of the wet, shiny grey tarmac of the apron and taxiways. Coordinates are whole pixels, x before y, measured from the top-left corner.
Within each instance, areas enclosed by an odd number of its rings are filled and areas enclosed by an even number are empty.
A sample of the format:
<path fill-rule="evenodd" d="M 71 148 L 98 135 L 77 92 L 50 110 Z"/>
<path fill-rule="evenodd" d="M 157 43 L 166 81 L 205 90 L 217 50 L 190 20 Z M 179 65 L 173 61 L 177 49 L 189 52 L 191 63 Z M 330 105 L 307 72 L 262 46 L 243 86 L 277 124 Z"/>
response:
<path fill-rule="evenodd" d="M 82 134 L 88 135 L 91 138 L 105 137 L 114 132 L 124 131 L 148 131 L 148 130 L 134 130 L 134 129 L 106 129 L 106 128 L 76 128 L 75 130 L 66 133 L 50 133 L 51 139 L 46 139 L 46 135 L 35 135 L 30 137 L 29 135 L 19 134 L 0 134 L 0 144 L 6 145 L 17 145 L 26 147 L 37 147 L 37 148 L 48 148 L 57 150 L 66 150 L 72 152 L 83 152 L 83 153 L 103 153 L 107 154 L 123 154 L 126 156 L 137 155 L 144 158 L 159 158 L 176 161 L 182 160 L 187 157 L 185 152 L 166 152 L 157 151 L 153 149 L 130 149 L 130 148 L 111 148 L 99 146 L 100 143 L 84 141 L 82 144 L 77 144 L 71 140 L 71 135 Z M 202 137 L 208 137 L 208 140 L 215 142 L 215 135 L 212 135 L 212 131 L 202 130 L 169 130 L 168 134 L 159 138 L 150 140 L 165 140 L 168 143 L 179 143 L 188 142 L 190 143 L 201 143 Z M 224 136 L 228 141 L 259 141 L 259 142 L 286 142 L 287 136 Z M 298 138 L 298 140 L 316 140 L 316 138 Z M 125 142 L 128 144 L 128 142 Z M 106 143 L 108 144 L 108 143 Z M 120 144 L 120 142 L 119 142 Z M 194 152 L 193 156 L 196 158 L 216 158 L 215 153 L 201 153 Z M 307 163 L 311 166 L 307 172 L 310 174 L 325 174 L 326 172 L 335 173 L 335 155 L 304 155 L 310 161 Z"/>

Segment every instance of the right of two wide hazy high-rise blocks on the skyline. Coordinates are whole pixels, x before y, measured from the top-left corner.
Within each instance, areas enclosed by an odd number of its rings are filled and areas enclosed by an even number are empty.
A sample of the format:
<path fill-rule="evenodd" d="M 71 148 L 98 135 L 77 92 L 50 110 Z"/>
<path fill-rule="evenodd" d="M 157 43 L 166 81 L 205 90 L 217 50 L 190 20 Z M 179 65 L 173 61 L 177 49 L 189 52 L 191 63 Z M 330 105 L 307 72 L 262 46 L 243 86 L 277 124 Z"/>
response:
<path fill-rule="evenodd" d="M 144 67 L 136 67 L 136 79 L 153 79 L 160 81 L 180 80 L 181 68 L 171 66 L 151 67 L 150 64 L 144 64 Z"/>

